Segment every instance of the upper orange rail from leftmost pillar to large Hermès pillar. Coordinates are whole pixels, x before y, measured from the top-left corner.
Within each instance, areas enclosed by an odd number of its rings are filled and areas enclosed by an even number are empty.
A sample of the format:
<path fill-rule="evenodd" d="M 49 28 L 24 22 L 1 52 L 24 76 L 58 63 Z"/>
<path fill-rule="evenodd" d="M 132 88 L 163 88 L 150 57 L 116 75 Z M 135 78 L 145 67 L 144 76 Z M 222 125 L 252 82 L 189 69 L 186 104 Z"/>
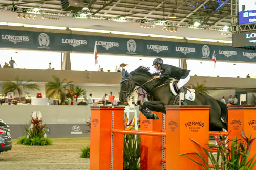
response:
<path fill-rule="evenodd" d="M 166 136 L 166 132 L 153 132 L 153 131 L 112 129 L 111 132 L 112 133 L 121 133 L 121 134 L 132 134 L 132 135 Z"/>

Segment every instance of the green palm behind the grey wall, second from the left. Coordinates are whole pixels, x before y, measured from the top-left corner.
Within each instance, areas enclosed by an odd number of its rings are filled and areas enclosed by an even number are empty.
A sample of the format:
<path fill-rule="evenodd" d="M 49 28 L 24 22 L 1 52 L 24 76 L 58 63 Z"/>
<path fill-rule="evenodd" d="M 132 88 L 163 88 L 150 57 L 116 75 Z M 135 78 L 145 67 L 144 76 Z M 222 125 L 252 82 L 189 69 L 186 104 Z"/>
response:
<path fill-rule="evenodd" d="M 63 79 L 62 81 L 60 81 L 60 79 L 58 77 L 56 77 L 54 75 L 52 77 L 53 77 L 54 81 L 50 81 L 46 85 L 46 88 L 47 88 L 46 93 L 49 93 L 51 91 L 51 93 L 48 95 L 48 99 L 53 97 L 53 95 L 55 93 L 58 93 L 60 95 L 61 104 L 63 104 L 66 99 L 67 87 L 70 86 L 73 81 L 64 83 L 66 81 L 66 79 Z"/>

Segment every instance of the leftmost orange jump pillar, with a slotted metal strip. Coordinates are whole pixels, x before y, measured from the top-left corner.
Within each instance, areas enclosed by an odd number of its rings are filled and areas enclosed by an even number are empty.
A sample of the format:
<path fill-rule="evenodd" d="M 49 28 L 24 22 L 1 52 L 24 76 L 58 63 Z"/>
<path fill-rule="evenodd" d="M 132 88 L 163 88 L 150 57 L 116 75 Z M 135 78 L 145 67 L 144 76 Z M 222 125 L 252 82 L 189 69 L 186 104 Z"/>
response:
<path fill-rule="evenodd" d="M 90 170 L 123 169 L 123 134 L 111 129 L 123 129 L 124 108 L 91 106 Z"/>

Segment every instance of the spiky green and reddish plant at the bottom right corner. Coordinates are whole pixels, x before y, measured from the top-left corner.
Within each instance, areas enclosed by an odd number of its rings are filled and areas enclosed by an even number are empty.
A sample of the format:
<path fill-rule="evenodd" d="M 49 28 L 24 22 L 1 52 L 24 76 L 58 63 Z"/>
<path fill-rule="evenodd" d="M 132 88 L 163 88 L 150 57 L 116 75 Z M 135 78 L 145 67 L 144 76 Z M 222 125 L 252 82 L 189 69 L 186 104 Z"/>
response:
<path fill-rule="evenodd" d="M 204 162 L 204 165 L 201 165 L 200 163 L 196 162 L 195 160 L 189 158 L 193 162 L 199 164 L 203 167 L 203 169 L 220 169 L 222 170 L 251 170 L 255 164 L 256 161 L 254 161 L 254 158 L 256 156 L 255 153 L 253 153 L 253 157 L 249 160 L 249 154 L 252 142 L 255 140 L 251 139 L 251 136 L 248 138 L 244 131 L 241 130 L 241 136 L 242 140 L 238 140 L 237 138 L 234 140 L 228 139 L 227 136 L 222 136 L 222 140 L 220 140 L 218 137 L 215 137 L 215 140 L 217 142 L 217 157 L 212 154 L 212 152 L 208 152 L 207 149 L 203 148 L 205 153 L 208 155 L 209 160 L 211 161 L 213 168 L 210 168 L 207 161 L 204 160 L 204 158 L 200 155 L 199 152 L 196 151 L 196 154 L 198 155 Z M 194 141 L 193 139 L 190 139 Z M 194 141 L 196 144 L 200 145 L 198 142 Z M 201 145 L 200 145 L 201 146 Z M 184 155 L 184 154 L 180 154 Z"/>

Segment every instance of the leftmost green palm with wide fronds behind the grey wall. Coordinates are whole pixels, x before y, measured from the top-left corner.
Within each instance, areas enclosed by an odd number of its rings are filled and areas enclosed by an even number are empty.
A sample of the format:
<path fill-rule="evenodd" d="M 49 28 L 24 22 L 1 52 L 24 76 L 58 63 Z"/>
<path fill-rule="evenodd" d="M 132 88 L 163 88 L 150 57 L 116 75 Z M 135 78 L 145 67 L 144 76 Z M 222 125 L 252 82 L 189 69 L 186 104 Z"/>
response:
<path fill-rule="evenodd" d="M 18 91 L 19 96 L 19 103 L 22 102 L 22 91 L 25 89 L 30 90 L 40 90 L 39 86 L 37 84 L 32 84 L 29 82 L 32 82 L 32 80 L 28 80 L 27 82 L 23 82 L 23 80 L 19 79 L 19 77 L 16 75 L 15 77 L 16 82 L 12 81 L 6 81 L 3 85 L 3 92 L 4 94 L 7 94 L 8 92 L 15 92 Z M 26 91 L 25 91 L 26 92 Z M 26 92 L 28 93 L 28 92 Z"/>

